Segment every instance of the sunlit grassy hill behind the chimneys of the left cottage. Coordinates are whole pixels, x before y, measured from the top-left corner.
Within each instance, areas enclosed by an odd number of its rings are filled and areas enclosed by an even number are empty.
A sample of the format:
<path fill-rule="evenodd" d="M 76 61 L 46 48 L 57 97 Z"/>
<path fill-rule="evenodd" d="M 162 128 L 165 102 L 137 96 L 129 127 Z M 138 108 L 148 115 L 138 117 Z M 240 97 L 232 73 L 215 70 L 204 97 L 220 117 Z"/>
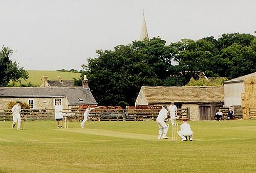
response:
<path fill-rule="evenodd" d="M 42 83 L 42 76 L 48 76 L 48 80 L 57 80 L 58 76 L 61 76 L 62 80 L 73 80 L 73 78 L 79 78 L 80 73 L 71 72 L 57 72 L 57 71 L 39 71 L 39 70 L 27 70 L 29 78 L 27 81 L 22 80 L 22 84 L 31 83 L 35 86 L 39 86 Z M 19 85 L 19 83 L 17 84 Z"/>

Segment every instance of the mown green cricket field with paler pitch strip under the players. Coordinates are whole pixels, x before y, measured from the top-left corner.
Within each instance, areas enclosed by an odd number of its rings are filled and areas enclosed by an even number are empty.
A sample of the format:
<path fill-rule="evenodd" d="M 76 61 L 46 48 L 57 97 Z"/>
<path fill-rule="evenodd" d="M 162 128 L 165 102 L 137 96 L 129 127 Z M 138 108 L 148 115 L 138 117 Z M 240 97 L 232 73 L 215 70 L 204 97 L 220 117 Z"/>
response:
<path fill-rule="evenodd" d="M 0 172 L 256 172 L 255 120 L 189 123 L 194 141 L 157 140 L 155 121 L 0 122 Z"/>

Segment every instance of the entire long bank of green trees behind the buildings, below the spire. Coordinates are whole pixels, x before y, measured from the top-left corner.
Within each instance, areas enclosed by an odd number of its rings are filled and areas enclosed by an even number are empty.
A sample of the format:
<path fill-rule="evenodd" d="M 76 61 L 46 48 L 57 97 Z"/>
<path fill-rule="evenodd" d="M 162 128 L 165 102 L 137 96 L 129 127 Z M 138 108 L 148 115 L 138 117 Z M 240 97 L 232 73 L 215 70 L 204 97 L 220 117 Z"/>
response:
<path fill-rule="evenodd" d="M 97 50 L 89 58 L 83 75 L 101 105 L 132 105 L 142 85 L 183 86 L 200 74 L 235 78 L 255 72 L 256 40 L 250 34 L 223 34 L 218 40 L 206 37 L 166 45 L 159 37 L 116 46 L 113 51 Z M 172 62 L 177 64 L 173 65 Z"/>

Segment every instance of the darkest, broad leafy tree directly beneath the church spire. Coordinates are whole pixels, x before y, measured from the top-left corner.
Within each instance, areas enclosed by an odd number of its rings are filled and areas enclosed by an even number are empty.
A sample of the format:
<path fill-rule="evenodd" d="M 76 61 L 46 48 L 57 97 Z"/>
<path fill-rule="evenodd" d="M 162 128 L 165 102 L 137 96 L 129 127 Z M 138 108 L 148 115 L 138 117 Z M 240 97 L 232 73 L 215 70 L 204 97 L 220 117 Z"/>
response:
<path fill-rule="evenodd" d="M 89 58 L 88 66 L 83 66 L 81 78 L 88 76 L 90 89 L 101 105 L 132 105 L 142 85 L 162 85 L 169 75 L 172 56 L 160 38 L 134 41 L 97 53 L 98 58 Z"/>

